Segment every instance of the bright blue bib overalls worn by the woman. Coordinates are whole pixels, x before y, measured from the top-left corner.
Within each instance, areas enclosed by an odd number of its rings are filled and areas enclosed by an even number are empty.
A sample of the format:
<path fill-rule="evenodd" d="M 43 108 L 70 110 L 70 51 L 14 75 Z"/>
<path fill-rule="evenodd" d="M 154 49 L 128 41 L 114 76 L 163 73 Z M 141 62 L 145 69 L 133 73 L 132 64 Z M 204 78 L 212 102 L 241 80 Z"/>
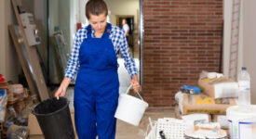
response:
<path fill-rule="evenodd" d="M 80 69 L 74 86 L 74 120 L 80 139 L 115 139 L 115 110 L 119 81 L 117 57 L 110 39 L 111 24 L 101 38 L 88 38 L 80 45 Z"/>

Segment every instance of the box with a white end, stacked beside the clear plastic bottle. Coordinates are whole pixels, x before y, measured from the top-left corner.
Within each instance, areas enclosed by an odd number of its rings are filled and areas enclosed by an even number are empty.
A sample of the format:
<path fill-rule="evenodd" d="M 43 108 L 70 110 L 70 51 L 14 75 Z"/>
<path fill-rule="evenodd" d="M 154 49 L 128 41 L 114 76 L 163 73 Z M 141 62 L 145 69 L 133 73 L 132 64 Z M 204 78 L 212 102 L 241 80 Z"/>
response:
<path fill-rule="evenodd" d="M 201 92 L 215 99 L 238 96 L 238 83 L 226 77 L 199 79 L 198 86 Z"/>

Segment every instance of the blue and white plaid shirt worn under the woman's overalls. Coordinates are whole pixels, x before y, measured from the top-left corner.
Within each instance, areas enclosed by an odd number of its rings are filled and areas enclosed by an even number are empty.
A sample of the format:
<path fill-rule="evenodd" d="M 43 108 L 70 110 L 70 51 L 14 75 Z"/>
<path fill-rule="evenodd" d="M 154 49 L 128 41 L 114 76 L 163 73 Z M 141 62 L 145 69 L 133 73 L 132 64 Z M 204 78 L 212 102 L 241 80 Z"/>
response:
<path fill-rule="evenodd" d="M 111 25 L 111 24 L 110 24 Z M 128 74 L 130 77 L 137 75 L 137 69 L 133 58 L 130 56 L 128 43 L 125 37 L 125 33 L 118 27 L 111 25 L 112 29 L 110 32 L 110 39 L 114 44 L 115 54 L 118 57 L 118 54 L 121 53 L 121 57 L 125 59 L 125 67 L 128 69 Z M 65 77 L 74 80 L 74 75 L 80 68 L 79 65 L 79 49 L 80 45 L 83 43 L 84 39 L 87 38 L 87 27 L 82 27 L 78 30 L 74 37 L 74 44 L 71 55 L 69 57 L 67 69 L 65 69 Z M 91 37 L 95 38 L 94 30 L 91 30 Z"/>

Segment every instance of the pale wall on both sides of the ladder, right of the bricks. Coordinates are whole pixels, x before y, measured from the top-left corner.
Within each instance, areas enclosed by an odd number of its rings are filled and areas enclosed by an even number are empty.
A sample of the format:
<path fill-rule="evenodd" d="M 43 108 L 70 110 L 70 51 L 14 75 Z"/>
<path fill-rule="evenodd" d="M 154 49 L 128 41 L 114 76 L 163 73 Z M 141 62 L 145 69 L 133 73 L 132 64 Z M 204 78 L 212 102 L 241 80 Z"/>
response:
<path fill-rule="evenodd" d="M 230 38 L 231 38 L 231 19 L 232 19 L 232 0 L 223 1 L 224 14 L 224 41 L 223 41 L 223 73 L 229 75 L 230 57 Z M 240 22 L 239 22 L 239 46 L 237 71 L 242 66 L 249 70 L 251 86 L 251 102 L 256 104 L 256 1 L 241 0 Z"/>

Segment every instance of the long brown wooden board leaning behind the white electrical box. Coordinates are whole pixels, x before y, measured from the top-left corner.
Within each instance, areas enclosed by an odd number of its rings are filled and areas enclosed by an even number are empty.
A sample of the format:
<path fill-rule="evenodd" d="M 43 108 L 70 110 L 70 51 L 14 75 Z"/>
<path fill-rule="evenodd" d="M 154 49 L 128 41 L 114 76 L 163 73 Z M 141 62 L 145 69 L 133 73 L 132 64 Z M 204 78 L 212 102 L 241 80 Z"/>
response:
<path fill-rule="evenodd" d="M 49 98 L 48 92 L 47 92 L 47 85 L 45 82 L 45 78 L 43 76 L 43 72 L 42 69 L 40 67 L 40 62 L 37 56 L 37 52 L 34 46 L 29 46 L 28 44 L 28 40 L 25 34 L 25 31 L 23 29 L 22 26 L 22 22 L 20 19 L 20 14 L 18 11 L 18 6 L 22 6 L 20 0 L 12 0 L 12 6 L 14 8 L 15 11 L 15 15 L 16 15 L 16 19 L 19 23 L 20 26 L 20 31 L 21 31 L 21 35 L 23 37 L 23 41 L 24 41 L 24 45 L 25 45 L 25 49 L 28 55 L 28 60 L 31 63 L 31 67 L 33 69 L 33 75 L 34 75 L 34 82 L 37 88 L 37 92 L 41 98 L 41 101 Z"/>

